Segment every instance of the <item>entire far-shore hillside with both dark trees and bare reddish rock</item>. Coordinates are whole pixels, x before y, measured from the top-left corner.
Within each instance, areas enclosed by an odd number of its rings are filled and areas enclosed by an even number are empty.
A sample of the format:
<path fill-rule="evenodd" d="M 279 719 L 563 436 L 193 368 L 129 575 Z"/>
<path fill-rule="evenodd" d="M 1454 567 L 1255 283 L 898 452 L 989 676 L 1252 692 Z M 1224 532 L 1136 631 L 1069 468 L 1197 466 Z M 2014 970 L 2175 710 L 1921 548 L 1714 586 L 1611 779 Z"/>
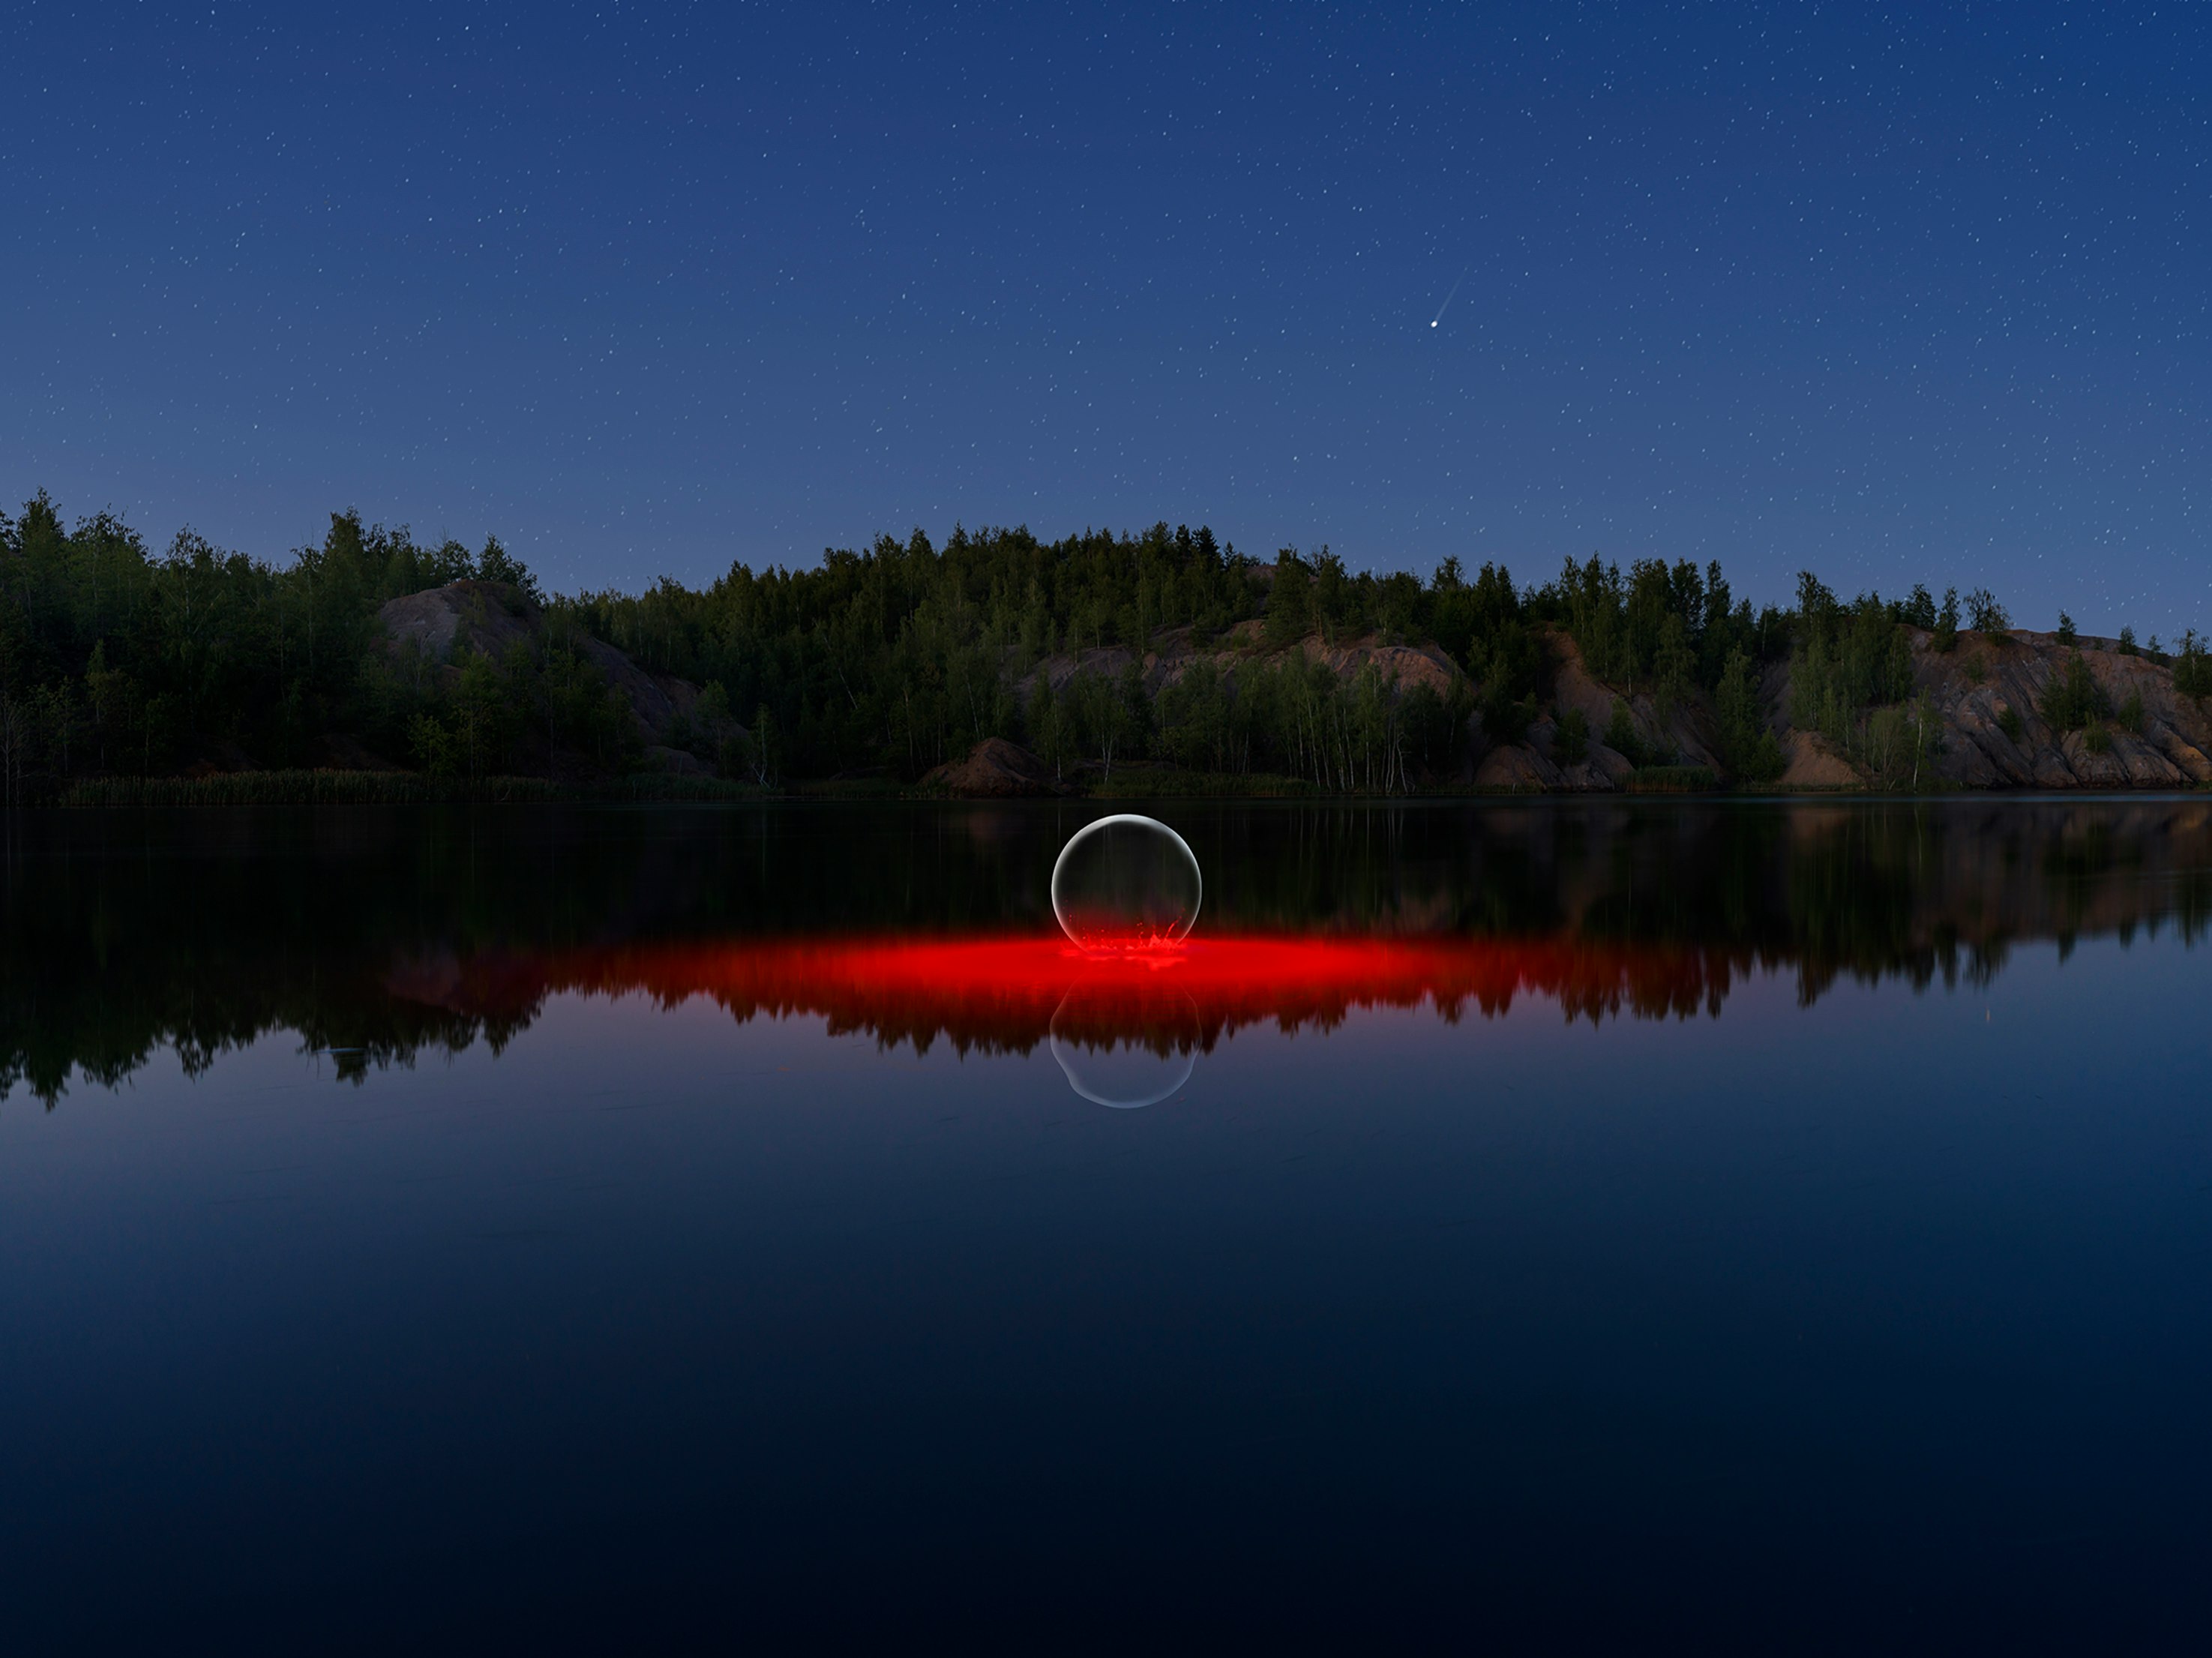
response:
<path fill-rule="evenodd" d="M 708 587 L 544 595 L 334 514 L 276 564 L 0 514 L 0 804 L 734 784 L 1360 792 L 2172 788 L 2212 657 L 2011 626 L 1986 591 L 1754 607 L 1719 564 L 1354 571 L 1206 527 L 920 531 Z M 2079 649 L 2077 649 L 2079 644 Z M 978 759 L 978 748 L 987 748 Z M 334 773 L 356 773 L 334 781 Z M 644 773 L 644 779 L 637 775 Z M 126 786 L 131 784 L 131 786 Z M 164 784 L 159 790 L 146 786 Z M 281 792 L 294 784 L 270 784 Z"/>

